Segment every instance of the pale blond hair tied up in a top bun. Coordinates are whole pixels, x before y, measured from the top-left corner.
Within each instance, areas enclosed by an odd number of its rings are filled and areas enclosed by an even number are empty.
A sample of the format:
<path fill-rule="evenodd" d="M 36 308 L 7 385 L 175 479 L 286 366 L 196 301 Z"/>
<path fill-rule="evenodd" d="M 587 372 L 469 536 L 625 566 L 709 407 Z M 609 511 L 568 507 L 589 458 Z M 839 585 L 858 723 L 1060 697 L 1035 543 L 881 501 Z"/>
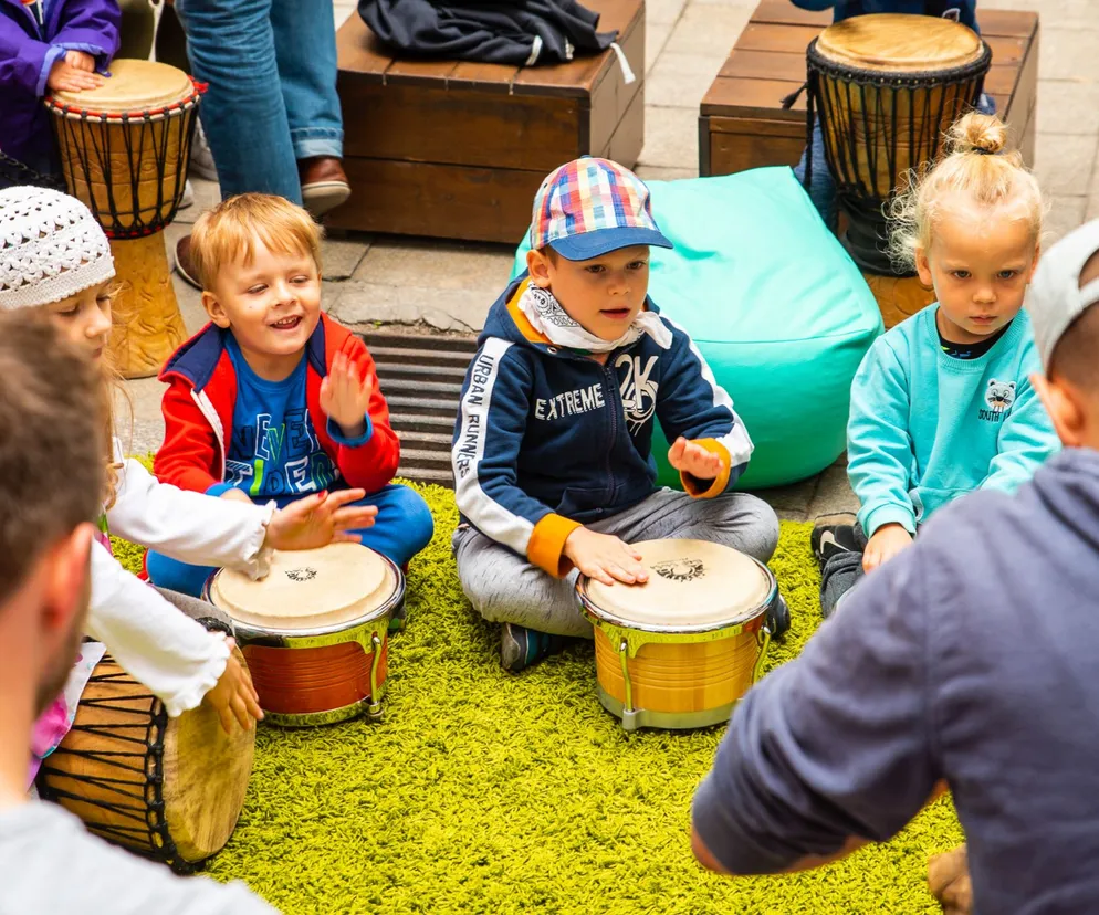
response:
<path fill-rule="evenodd" d="M 943 201 L 956 194 L 982 208 L 1018 208 L 1037 244 L 1042 191 L 1023 155 L 1006 146 L 1007 126 L 998 117 L 970 112 L 954 122 L 945 155 L 921 172 L 909 172 L 908 186 L 889 204 L 889 255 L 897 266 L 914 271 L 917 251 L 931 248 Z"/>

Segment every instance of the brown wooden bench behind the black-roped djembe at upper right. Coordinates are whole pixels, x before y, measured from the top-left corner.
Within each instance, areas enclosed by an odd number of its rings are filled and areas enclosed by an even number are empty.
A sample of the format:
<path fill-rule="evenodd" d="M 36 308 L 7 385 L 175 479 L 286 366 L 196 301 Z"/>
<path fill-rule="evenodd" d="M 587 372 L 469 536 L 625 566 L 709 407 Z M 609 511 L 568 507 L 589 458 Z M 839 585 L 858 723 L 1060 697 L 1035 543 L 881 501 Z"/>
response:
<path fill-rule="evenodd" d="M 1038 102 L 1038 14 L 977 8 L 992 48 L 985 92 L 1012 128 L 1012 141 L 1034 165 Z M 782 99 L 805 82 L 805 49 L 831 22 L 789 0 L 763 0 L 702 99 L 699 173 L 797 165 L 805 148 L 805 93 L 789 111 Z"/>

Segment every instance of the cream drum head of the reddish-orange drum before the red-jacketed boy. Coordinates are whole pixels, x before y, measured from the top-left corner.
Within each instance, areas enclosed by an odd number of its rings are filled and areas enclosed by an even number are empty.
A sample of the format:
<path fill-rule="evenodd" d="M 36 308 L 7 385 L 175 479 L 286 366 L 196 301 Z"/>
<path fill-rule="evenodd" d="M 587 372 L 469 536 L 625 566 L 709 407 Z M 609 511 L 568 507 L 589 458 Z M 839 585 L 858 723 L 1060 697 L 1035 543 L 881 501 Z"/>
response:
<path fill-rule="evenodd" d="M 253 581 L 222 569 L 210 600 L 234 620 L 260 629 L 314 630 L 358 620 L 397 590 L 389 565 L 360 544 L 274 551 L 271 572 Z"/>

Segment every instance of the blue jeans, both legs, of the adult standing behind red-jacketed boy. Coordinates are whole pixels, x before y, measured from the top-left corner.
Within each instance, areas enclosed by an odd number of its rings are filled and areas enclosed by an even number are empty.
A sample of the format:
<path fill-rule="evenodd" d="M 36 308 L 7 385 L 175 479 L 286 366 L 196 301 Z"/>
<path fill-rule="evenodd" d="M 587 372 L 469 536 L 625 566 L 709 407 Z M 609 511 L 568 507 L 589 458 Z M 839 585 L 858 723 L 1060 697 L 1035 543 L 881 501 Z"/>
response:
<path fill-rule="evenodd" d="M 343 156 L 332 0 L 177 0 L 222 198 L 302 202 L 297 159 Z"/>

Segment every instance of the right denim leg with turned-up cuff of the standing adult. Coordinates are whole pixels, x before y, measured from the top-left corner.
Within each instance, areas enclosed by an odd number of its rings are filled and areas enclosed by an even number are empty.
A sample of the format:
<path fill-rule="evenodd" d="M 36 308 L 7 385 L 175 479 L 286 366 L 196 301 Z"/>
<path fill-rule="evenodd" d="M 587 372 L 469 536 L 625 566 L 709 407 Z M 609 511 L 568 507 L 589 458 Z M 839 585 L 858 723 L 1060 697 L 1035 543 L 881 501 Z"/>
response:
<path fill-rule="evenodd" d="M 294 155 L 342 158 L 332 0 L 271 0 L 271 29 Z"/>

